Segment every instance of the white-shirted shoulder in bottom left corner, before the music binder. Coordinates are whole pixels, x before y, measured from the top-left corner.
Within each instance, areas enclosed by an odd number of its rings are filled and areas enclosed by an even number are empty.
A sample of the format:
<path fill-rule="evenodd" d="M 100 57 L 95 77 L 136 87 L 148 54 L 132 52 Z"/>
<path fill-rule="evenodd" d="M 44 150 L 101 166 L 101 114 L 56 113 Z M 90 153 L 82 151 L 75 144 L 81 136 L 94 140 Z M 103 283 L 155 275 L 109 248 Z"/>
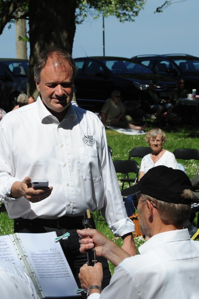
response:
<path fill-rule="evenodd" d="M 0 298 L 37 299 L 31 279 L 10 262 L 0 260 Z"/>

